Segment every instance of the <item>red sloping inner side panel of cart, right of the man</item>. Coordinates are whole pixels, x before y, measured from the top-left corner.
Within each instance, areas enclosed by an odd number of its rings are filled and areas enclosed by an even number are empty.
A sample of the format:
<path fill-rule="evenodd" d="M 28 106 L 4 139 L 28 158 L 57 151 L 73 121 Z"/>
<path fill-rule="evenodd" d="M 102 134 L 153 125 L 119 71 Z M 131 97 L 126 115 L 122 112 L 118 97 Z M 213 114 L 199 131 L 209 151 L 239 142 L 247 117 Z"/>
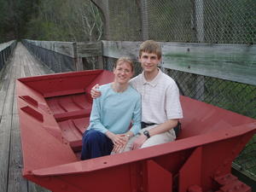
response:
<path fill-rule="evenodd" d="M 181 96 L 181 103 L 184 118 L 181 120 L 183 131 L 180 138 L 223 130 L 225 126 L 231 127 L 256 121 L 255 119 L 199 102 L 186 96 Z"/>

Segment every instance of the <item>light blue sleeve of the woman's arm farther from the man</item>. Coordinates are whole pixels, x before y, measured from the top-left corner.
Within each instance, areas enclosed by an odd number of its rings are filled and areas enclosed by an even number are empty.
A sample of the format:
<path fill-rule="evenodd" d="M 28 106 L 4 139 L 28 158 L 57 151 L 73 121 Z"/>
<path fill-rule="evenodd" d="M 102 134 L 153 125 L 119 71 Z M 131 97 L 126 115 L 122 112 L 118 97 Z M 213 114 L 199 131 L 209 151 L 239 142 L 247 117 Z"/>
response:
<path fill-rule="evenodd" d="M 100 99 L 101 98 L 96 98 L 93 100 L 90 112 L 90 129 L 101 131 L 103 134 L 105 134 L 108 129 L 102 125 Z"/>

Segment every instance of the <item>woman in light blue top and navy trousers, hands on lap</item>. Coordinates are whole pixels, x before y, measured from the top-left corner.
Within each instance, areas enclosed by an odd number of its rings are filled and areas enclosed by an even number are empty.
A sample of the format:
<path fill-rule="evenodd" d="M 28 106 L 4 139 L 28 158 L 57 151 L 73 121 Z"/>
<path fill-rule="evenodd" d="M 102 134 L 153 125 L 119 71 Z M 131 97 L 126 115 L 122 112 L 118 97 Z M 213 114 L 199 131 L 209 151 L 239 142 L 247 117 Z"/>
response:
<path fill-rule="evenodd" d="M 113 82 L 100 86 L 102 96 L 93 101 L 90 125 L 83 136 L 81 160 L 112 151 L 121 153 L 128 140 L 140 131 L 141 96 L 129 85 L 133 73 L 132 61 L 121 57 L 113 67 Z"/>

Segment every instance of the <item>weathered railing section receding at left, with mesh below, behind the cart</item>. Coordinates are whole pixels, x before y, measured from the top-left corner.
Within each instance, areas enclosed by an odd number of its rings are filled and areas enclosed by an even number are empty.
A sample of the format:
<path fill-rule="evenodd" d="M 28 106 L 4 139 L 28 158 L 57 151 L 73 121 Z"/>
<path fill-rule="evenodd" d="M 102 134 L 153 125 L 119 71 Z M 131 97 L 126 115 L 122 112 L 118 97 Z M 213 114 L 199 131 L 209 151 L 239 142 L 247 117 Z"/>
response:
<path fill-rule="evenodd" d="M 22 40 L 33 55 L 48 65 L 53 71 L 66 72 L 84 69 L 82 58 L 98 57 L 98 65 L 102 68 L 101 42 L 58 42 Z"/>

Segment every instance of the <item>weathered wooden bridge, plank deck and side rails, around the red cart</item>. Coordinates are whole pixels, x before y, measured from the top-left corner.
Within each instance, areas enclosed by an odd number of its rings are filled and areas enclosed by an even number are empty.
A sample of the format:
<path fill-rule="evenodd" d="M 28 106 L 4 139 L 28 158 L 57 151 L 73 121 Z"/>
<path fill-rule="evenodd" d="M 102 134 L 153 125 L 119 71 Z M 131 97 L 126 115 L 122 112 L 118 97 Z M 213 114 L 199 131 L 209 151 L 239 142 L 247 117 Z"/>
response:
<path fill-rule="evenodd" d="M 48 191 L 26 181 L 21 175 L 23 163 L 22 154 L 20 153 L 20 129 L 15 102 L 15 80 L 22 77 L 54 73 L 49 68 L 55 70 L 55 72 L 88 69 L 86 68 L 88 63 L 84 58 L 92 56 L 98 58 L 99 68 L 103 67 L 103 57 L 105 59 L 111 58 L 108 64 L 124 55 L 137 61 L 138 47 L 141 42 L 62 43 L 26 40 L 23 43 L 41 61 L 47 60 L 48 67 L 42 65 L 20 43 L 14 49 L 13 55 L 9 57 L 9 61 L 7 61 L 6 55 L 0 55 L 0 192 Z M 206 86 L 204 77 L 247 84 L 247 90 L 252 90 L 251 93 L 247 92 L 247 95 L 253 95 L 253 91 L 255 91 L 253 86 L 256 82 L 255 45 L 177 44 L 166 42 L 162 43 L 162 50 L 162 67 L 167 70 L 198 75 L 193 77 L 191 75 L 191 80 L 196 84 L 196 89 L 191 87 L 191 90 L 196 90 L 198 96 L 204 94 L 204 89 L 200 88 L 200 86 Z M 2 68 L 3 61 L 5 61 L 5 65 Z M 72 64 L 67 66 L 65 62 Z M 107 69 L 110 68 L 107 67 Z M 184 90 L 190 89 L 187 86 L 187 82 L 185 82 L 182 88 Z M 201 98 L 196 99 L 200 100 Z"/>

